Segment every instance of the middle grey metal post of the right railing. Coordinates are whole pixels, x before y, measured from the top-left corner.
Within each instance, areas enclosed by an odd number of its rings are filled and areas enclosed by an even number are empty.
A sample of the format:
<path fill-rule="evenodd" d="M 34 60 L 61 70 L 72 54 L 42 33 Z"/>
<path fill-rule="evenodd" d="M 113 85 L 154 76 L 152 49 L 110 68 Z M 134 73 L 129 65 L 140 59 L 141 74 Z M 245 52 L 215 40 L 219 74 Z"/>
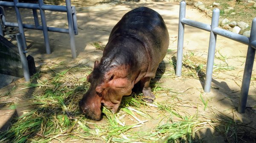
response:
<path fill-rule="evenodd" d="M 209 93 L 211 90 L 212 70 L 213 70 L 213 62 L 214 62 L 214 55 L 215 55 L 216 38 L 217 38 L 217 34 L 213 33 L 213 29 L 218 27 L 219 16 L 220 16 L 220 10 L 218 8 L 214 8 L 212 11 L 212 24 L 211 24 L 211 31 L 210 31 L 207 67 L 206 67 L 205 84 L 204 84 L 204 92 L 206 93 Z"/>

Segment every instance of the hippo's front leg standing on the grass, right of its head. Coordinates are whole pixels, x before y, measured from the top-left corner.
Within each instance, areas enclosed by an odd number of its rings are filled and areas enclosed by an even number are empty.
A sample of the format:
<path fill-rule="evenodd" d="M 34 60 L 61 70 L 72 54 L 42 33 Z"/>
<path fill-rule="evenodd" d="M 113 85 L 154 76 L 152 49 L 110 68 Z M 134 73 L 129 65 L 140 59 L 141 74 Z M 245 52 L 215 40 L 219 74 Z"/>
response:
<path fill-rule="evenodd" d="M 140 84 L 143 87 L 142 93 L 143 93 L 143 100 L 149 102 L 149 103 L 153 103 L 155 96 L 154 94 L 151 92 L 151 88 L 150 88 L 150 77 L 145 77 L 143 79 L 140 80 Z"/>

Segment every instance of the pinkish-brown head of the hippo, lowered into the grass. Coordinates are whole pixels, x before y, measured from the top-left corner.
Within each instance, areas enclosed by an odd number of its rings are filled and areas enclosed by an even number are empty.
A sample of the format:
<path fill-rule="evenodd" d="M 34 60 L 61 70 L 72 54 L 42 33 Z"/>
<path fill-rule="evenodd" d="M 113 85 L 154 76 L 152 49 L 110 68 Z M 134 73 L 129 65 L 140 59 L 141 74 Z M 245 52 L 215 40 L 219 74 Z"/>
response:
<path fill-rule="evenodd" d="M 125 65 L 94 63 L 93 72 L 87 76 L 90 88 L 79 101 L 81 111 L 93 120 L 100 120 L 104 105 L 115 113 L 123 95 L 130 95 L 133 88 Z"/>

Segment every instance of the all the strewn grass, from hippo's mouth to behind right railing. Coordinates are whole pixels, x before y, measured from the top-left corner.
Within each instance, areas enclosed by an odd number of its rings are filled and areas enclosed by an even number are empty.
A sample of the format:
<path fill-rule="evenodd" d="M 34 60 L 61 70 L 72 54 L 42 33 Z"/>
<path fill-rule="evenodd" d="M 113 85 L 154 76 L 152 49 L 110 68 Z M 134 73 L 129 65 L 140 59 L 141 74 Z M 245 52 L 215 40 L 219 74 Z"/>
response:
<path fill-rule="evenodd" d="M 192 51 L 184 55 L 183 77 L 204 77 L 206 62 L 197 56 Z M 225 61 L 225 57 L 222 59 Z M 237 137 L 236 130 L 230 130 L 237 127 L 232 119 L 228 119 L 232 121 L 228 122 L 226 118 L 220 120 L 198 114 L 198 107 L 202 107 L 201 110 L 215 112 L 215 109 L 208 105 L 209 99 L 198 95 L 202 104 L 190 103 L 178 96 L 183 93 L 163 87 L 157 81 L 152 92 L 157 97 L 168 97 L 163 101 L 145 103 L 141 94 L 133 93 L 131 96 L 123 97 L 118 113 L 113 114 L 104 107 L 102 121 L 87 119 L 79 111 L 78 103 L 90 87 L 86 79 L 92 69 L 83 64 L 68 65 L 70 61 L 52 63 L 51 66 L 41 67 L 41 71 L 32 76 L 31 81 L 22 89 L 33 90 L 32 94 L 24 95 L 20 103 L 10 106 L 11 109 L 25 106 L 28 110 L 12 120 L 12 126 L 8 131 L 0 132 L 1 143 L 48 143 L 52 140 L 63 143 L 97 140 L 106 143 L 190 143 L 200 141 L 196 138 L 196 132 L 200 129 L 212 127 L 222 132 L 218 127 L 223 123 L 230 123 L 226 127 L 229 130 L 225 135 Z M 169 58 L 169 63 L 165 66 L 169 68 L 162 72 L 162 77 L 174 78 L 175 60 Z M 214 72 L 219 70 L 232 68 L 227 64 L 215 64 Z M 194 108 L 195 113 L 186 112 L 187 108 Z M 148 123 L 152 120 L 157 123 Z M 145 126 L 148 125 L 151 127 L 145 130 Z"/>

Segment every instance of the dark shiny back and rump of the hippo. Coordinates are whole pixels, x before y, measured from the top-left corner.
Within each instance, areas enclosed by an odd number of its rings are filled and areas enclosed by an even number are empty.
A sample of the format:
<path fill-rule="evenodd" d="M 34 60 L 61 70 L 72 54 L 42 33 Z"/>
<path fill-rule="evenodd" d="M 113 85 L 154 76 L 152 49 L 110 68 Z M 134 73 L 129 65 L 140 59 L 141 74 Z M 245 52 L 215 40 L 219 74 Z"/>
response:
<path fill-rule="evenodd" d="M 118 36 L 134 37 L 143 43 L 150 62 L 147 76 L 154 77 L 158 64 L 163 60 L 169 46 L 168 30 L 160 14 L 147 7 L 129 11 L 114 26 L 108 42 Z"/>

